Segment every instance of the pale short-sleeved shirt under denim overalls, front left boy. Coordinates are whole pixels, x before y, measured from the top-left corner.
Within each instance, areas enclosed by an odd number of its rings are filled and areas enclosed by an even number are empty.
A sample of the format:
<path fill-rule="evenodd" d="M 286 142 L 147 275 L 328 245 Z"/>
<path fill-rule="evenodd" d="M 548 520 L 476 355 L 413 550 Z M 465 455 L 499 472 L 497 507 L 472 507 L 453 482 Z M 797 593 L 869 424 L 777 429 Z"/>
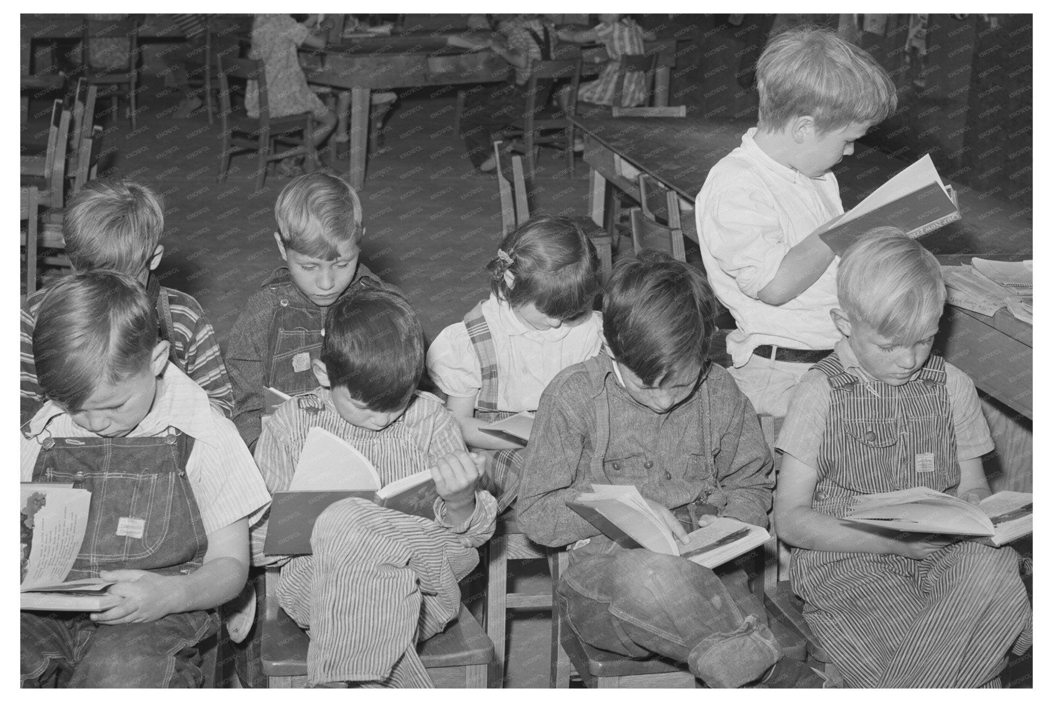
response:
<path fill-rule="evenodd" d="M 258 520 L 270 504 L 263 479 L 253 463 L 234 423 L 208 402 L 208 397 L 171 361 L 159 381 L 157 398 L 146 417 L 131 434 L 164 436 L 170 426 L 194 437 L 186 461 L 186 476 L 194 490 L 205 534 L 213 534 L 243 517 Z M 21 480 L 33 480 L 40 442 L 55 438 L 96 437 L 81 427 L 65 409 L 47 402 L 31 420 L 21 438 Z"/>

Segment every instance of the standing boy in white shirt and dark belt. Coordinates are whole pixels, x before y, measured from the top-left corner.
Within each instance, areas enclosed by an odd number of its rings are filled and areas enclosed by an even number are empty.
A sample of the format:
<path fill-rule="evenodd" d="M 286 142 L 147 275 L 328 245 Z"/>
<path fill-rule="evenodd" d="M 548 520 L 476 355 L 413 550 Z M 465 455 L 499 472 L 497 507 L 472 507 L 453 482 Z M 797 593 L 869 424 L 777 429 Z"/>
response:
<path fill-rule="evenodd" d="M 710 283 L 735 318 L 732 377 L 758 413 L 781 417 L 838 337 L 835 257 L 815 234 L 843 212 L 830 169 L 893 113 L 896 92 L 870 54 L 813 27 L 769 41 L 757 81 L 759 123 L 710 169 L 695 218 Z"/>

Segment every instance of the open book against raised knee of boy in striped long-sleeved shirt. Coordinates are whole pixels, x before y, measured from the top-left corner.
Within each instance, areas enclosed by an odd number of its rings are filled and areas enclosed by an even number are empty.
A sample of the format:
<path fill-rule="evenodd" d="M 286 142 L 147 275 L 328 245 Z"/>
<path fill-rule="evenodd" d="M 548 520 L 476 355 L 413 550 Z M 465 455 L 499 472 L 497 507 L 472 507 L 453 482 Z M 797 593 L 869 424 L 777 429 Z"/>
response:
<path fill-rule="evenodd" d="M 274 494 L 263 553 L 310 554 L 311 531 L 325 507 L 349 497 L 372 500 L 389 509 L 435 519 L 438 493 L 431 470 L 383 485 L 376 466 L 350 443 L 313 426 L 300 452 L 287 490 Z"/>

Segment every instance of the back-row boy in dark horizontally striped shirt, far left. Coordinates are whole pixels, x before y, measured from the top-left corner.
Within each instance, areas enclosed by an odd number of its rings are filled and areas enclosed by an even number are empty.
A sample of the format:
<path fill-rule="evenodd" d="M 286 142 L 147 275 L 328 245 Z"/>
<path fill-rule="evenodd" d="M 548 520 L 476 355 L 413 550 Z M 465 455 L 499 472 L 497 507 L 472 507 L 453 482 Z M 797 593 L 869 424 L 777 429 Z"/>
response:
<path fill-rule="evenodd" d="M 133 180 L 93 180 L 66 203 L 62 219 L 65 253 L 75 273 L 120 270 L 137 279 L 157 308 L 168 357 L 208 394 L 225 416 L 234 410 L 234 393 L 212 324 L 190 295 L 164 287 L 154 275 L 164 255 L 161 196 Z M 33 358 L 33 328 L 46 290 L 31 295 L 21 314 L 21 423 L 40 409 L 45 398 Z"/>

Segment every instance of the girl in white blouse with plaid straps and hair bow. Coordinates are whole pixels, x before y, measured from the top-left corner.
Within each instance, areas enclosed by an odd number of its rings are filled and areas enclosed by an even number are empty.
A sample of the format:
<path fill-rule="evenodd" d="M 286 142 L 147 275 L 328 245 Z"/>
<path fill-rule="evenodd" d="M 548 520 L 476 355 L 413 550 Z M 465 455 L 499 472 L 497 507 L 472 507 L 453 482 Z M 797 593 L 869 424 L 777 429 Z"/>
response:
<path fill-rule="evenodd" d="M 600 268 L 581 227 L 550 215 L 504 237 L 486 268 L 490 299 L 439 333 L 428 369 L 464 442 L 485 450 L 486 475 L 504 506 L 515 498 L 520 444 L 480 428 L 534 412 L 556 374 L 599 352 L 603 332 L 593 302 Z"/>

